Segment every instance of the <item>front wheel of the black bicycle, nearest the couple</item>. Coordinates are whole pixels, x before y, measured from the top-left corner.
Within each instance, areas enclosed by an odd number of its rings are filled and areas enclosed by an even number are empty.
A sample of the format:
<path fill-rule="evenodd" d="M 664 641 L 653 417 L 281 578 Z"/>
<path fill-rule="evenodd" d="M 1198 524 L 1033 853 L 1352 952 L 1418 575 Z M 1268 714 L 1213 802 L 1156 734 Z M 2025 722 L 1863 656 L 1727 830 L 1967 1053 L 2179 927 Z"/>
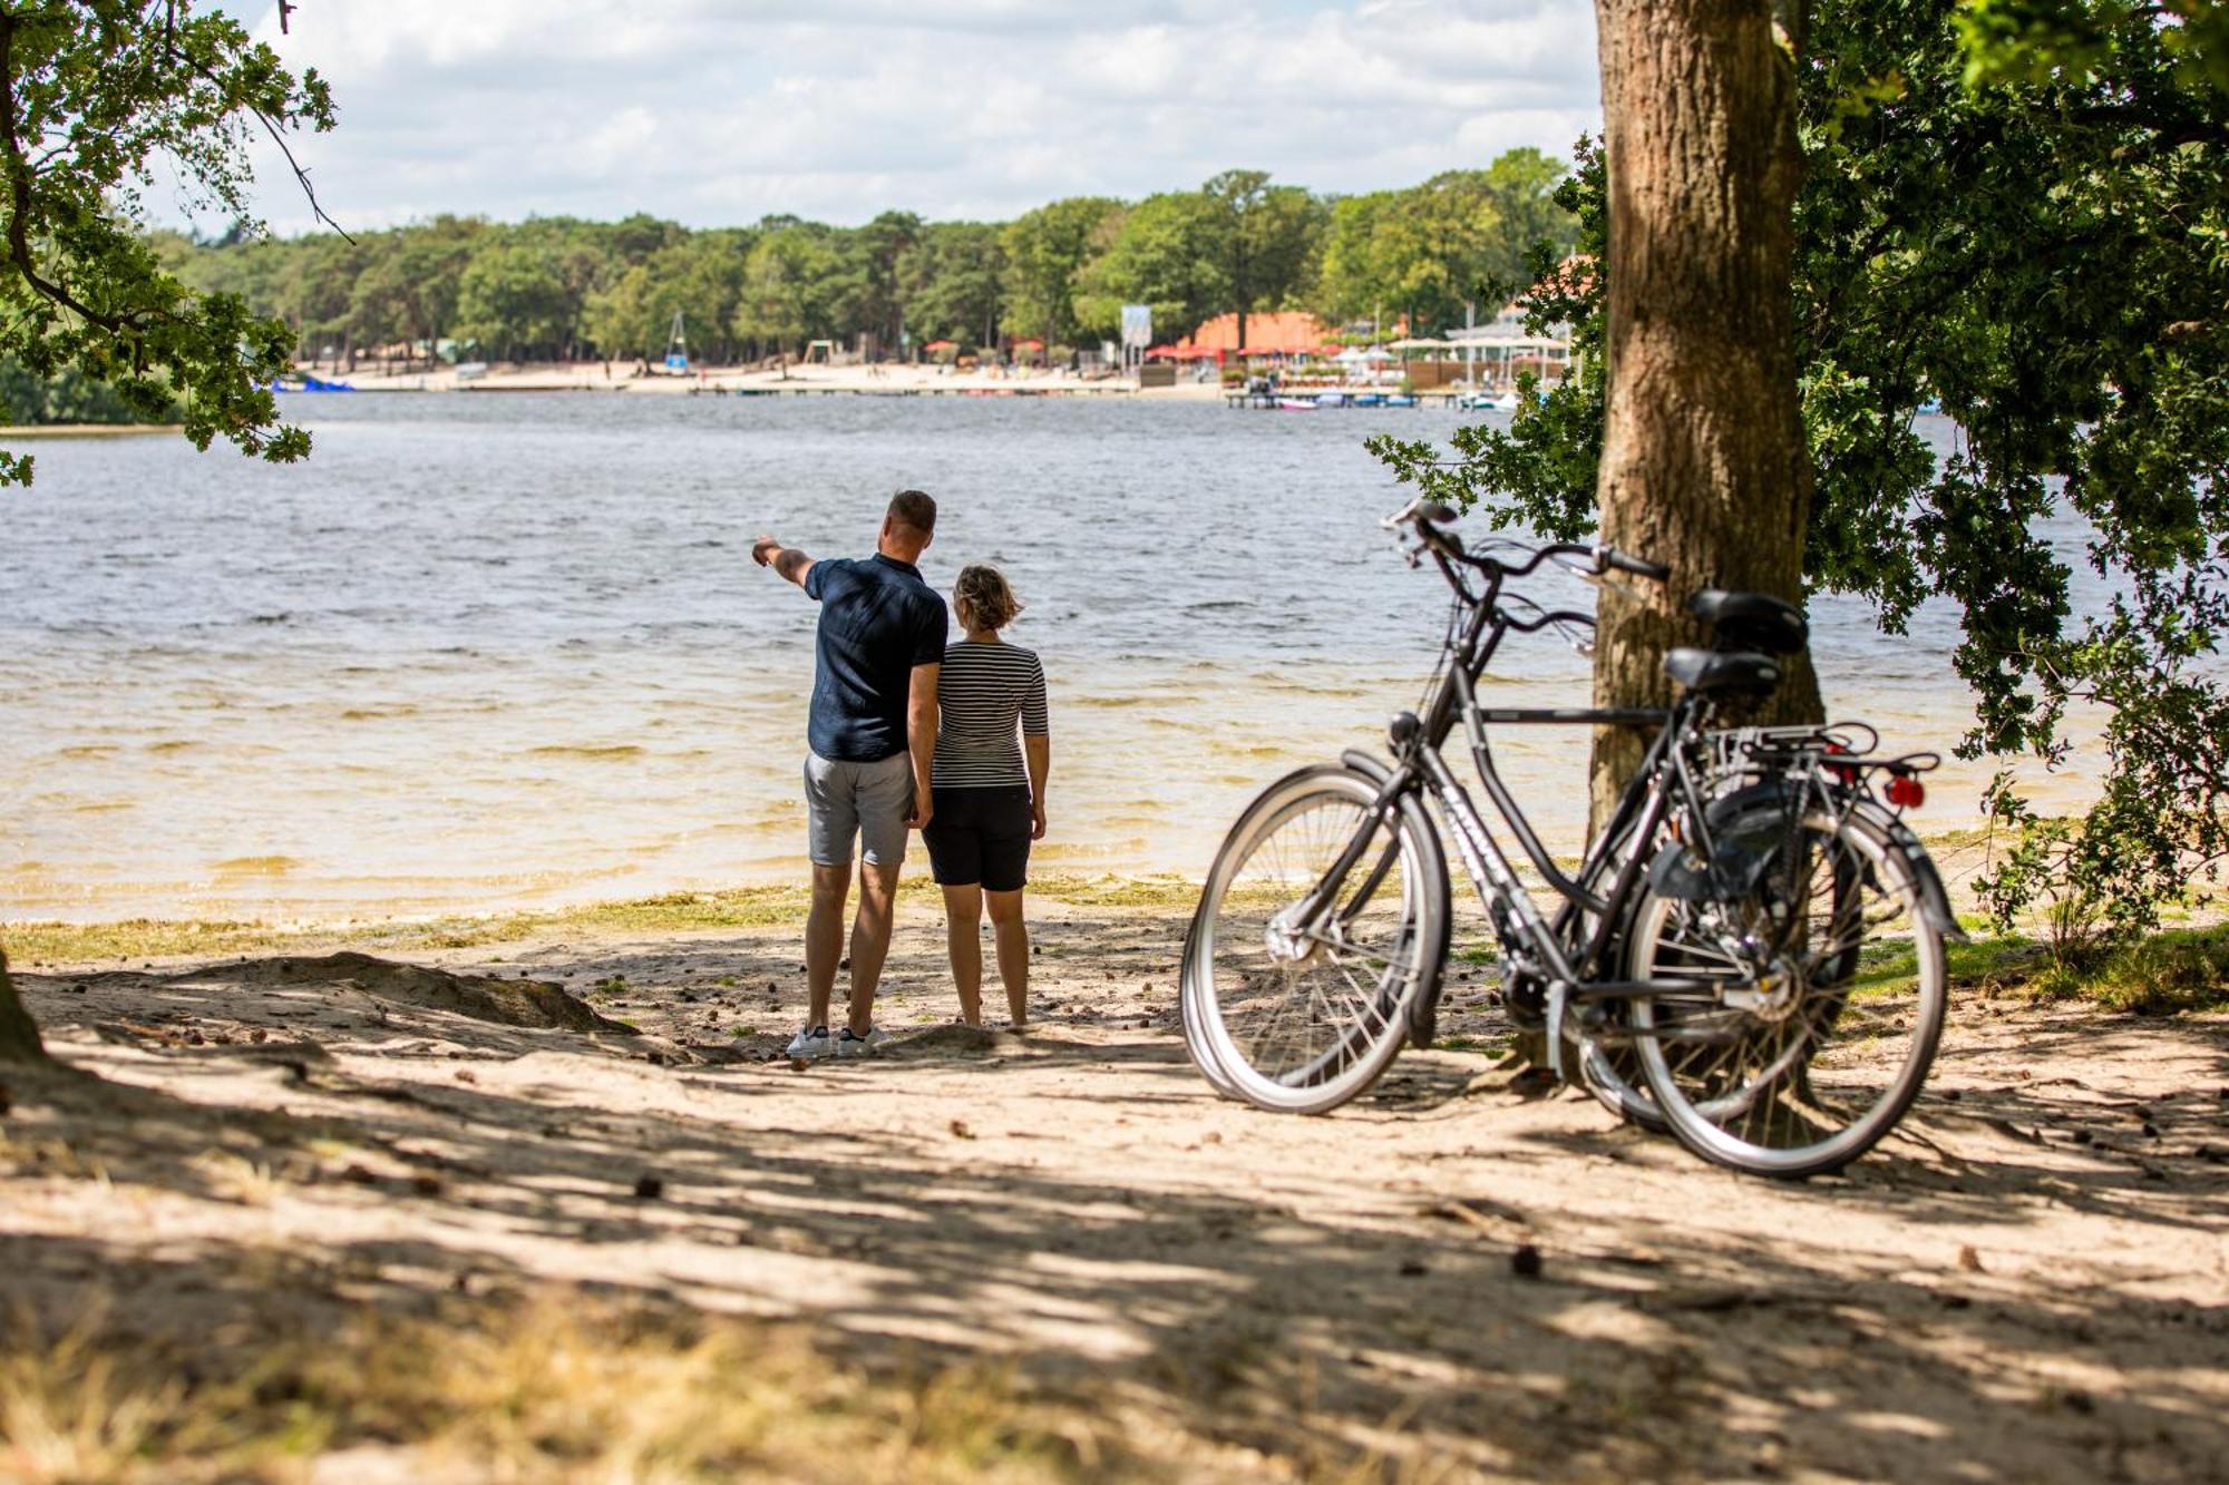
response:
<path fill-rule="evenodd" d="M 1230 827 L 1193 921 L 1193 1061 L 1259 1108 L 1337 1108 L 1400 1055 L 1447 932 L 1447 856 L 1413 794 L 1380 809 L 1378 783 L 1335 765 L 1279 778 Z"/>

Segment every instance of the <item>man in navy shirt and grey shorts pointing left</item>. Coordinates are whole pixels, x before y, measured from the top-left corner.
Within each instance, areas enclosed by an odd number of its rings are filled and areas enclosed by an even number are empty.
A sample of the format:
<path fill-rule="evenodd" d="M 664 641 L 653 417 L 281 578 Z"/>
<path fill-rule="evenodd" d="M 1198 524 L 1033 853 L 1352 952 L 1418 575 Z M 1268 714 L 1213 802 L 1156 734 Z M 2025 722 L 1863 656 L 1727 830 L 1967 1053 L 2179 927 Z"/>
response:
<path fill-rule="evenodd" d="M 889 1041 L 874 1026 L 874 988 L 889 954 L 905 832 L 929 823 L 936 751 L 936 671 L 945 658 L 945 600 L 921 580 L 936 533 L 936 502 L 898 491 L 865 562 L 814 562 L 771 535 L 751 557 L 820 604 L 814 705 L 805 758 L 814 905 L 805 919 L 805 1030 L 791 1057 L 858 1057 Z M 849 1023 L 829 1039 L 829 999 L 843 950 L 843 910 L 858 843 L 858 916 L 851 923 Z"/>

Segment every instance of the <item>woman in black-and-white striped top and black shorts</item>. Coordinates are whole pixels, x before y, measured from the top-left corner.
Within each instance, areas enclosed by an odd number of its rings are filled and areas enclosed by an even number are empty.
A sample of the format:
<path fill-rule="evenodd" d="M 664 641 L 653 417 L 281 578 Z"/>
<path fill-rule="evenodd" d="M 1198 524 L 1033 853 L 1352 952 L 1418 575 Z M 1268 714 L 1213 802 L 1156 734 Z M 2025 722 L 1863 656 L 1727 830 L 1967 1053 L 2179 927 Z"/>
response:
<path fill-rule="evenodd" d="M 936 682 L 934 809 L 923 838 L 929 870 L 945 890 L 945 934 L 961 1021 L 983 1023 L 983 905 L 999 939 L 999 979 L 1014 1030 L 1030 1023 L 1030 930 L 1021 887 L 1030 841 L 1045 836 L 1045 771 L 1052 736 L 1045 671 L 1036 651 L 999 631 L 1021 604 L 994 566 L 965 566 L 952 586 L 965 640 L 945 649 Z"/>

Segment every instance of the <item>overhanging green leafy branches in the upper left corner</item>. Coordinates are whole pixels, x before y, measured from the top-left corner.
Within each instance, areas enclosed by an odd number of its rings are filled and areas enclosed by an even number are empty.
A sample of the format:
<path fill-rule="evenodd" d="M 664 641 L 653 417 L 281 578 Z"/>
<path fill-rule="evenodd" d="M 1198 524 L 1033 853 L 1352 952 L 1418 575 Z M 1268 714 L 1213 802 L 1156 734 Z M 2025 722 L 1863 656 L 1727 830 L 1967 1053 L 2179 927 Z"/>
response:
<path fill-rule="evenodd" d="M 143 417 L 176 397 L 196 448 L 299 459 L 310 437 L 279 424 L 267 390 L 292 334 L 234 294 L 196 294 L 138 223 L 158 172 L 196 205 L 241 216 L 245 140 L 332 125 L 314 71 L 290 76 L 236 20 L 187 4 L 29 0 L 0 4 L 0 357 L 36 379 L 103 381 Z M 31 477 L 0 453 L 0 484 Z"/>

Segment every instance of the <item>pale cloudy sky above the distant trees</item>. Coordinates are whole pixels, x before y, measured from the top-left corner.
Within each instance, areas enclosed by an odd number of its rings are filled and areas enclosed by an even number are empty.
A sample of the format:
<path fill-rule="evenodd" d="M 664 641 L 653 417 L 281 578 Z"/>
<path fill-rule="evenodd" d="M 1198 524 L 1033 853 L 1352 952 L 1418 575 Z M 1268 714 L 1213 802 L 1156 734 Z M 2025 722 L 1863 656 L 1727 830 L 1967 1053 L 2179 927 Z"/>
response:
<path fill-rule="evenodd" d="M 218 9 L 332 85 L 294 154 L 350 230 L 1003 221 L 1228 167 L 1364 192 L 1600 127 L 1589 0 L 296 0 L 288 36 L 274 0 Z M 310 230 L 256 167 L 270 227 Z"/>

